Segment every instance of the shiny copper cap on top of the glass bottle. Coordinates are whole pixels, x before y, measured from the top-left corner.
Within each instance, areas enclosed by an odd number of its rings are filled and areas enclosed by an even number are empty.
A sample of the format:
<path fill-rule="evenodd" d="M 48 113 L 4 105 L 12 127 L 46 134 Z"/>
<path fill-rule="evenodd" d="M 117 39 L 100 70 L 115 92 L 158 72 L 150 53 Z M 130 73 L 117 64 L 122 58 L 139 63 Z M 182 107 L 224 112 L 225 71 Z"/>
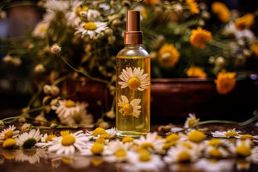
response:
<path fill-rule="evenodd" d="M 143 44 L 143 32 L 141 31 L 140 22 L 140 11 L 126 11 L 124 44 Z"/>

